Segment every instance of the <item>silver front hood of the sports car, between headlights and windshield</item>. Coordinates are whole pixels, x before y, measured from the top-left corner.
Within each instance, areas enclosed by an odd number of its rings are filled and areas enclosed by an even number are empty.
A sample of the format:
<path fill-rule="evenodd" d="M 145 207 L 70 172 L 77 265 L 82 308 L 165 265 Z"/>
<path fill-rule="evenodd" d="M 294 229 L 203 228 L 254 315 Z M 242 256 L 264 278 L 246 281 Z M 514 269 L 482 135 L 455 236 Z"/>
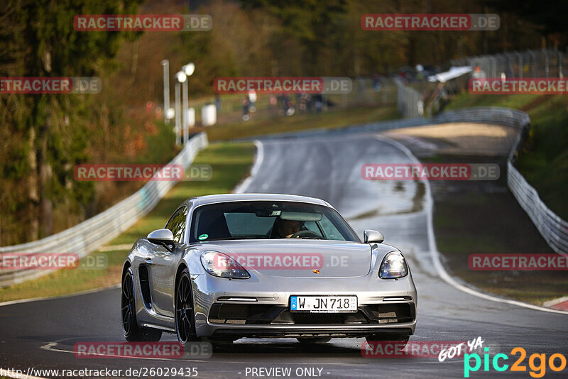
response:
<path fill-rule="evenodd" d="M 371 246 L 345 241 L 278 239 L 215 241 L 203 251 L 234 258 L 246 270 L 273 277 L 356 278 L 371 270 Z"/>

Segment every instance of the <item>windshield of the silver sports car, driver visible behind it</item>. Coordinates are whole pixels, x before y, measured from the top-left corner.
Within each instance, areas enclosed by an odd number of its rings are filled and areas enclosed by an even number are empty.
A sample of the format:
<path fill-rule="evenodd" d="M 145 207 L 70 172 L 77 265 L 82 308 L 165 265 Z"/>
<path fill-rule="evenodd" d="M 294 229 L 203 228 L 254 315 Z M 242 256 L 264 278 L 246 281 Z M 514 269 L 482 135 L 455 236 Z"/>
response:
<path fill-rule="evenodd" d="M 309 238 L 359 242 L 334 209 L 302 202 L 226 202 L 197 207 L 190 242 Z"/>

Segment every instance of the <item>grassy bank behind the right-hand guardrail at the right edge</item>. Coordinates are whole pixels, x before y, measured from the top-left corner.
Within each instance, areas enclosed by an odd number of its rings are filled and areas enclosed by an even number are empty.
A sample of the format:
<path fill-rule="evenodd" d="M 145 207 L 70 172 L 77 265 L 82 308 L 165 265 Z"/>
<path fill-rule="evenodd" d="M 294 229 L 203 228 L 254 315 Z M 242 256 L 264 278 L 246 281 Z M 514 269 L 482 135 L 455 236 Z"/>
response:
<path fill-rule="evenodd" d="M 562 219 L 568 219 L 568 97 L 463 93 L 447 109 L 466 106 L 506 106 L 527 112 L 531 130 L 517 163 L 518 170 L 547 207 Z"/>

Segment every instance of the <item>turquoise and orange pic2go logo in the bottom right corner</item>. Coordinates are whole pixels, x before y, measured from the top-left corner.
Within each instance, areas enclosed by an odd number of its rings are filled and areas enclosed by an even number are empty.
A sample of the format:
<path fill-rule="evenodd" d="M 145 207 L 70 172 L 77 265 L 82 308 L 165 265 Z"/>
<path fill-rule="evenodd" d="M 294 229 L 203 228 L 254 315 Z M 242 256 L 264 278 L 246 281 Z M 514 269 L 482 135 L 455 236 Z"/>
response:
<path fill-rule="evenodd" d="M 496 371 L 505 371 L 509 368 L 509 365 L 503 362 L 509 359 L 509 357 L 506 354 L 501 354 L 501 353 L 496 354 L 491 359 L 489 358 L 489 348 L 484 348 L 484 351 L 486 352 L 483 358 L 484 371 L 490 370 L 489 363 L 492 364 L 493 370 Z M 510 351 L 511 356 L 516 356 L 517 354 L 520 354 L 520 356 L 517 359 L 517 361 L 515 361 L 515 363 L 513 363 L 512 366 L 510 366 L 510 371 L 526 372 L 527 367 L 523 366 L 523 361 L 527 356 L 527 352 L 525 351 L 524 348 L 521 347 L 515 347 L 513 348 L 513 350 Z M 546 358 L 547 358 L 546 354 L 542 353 L 532 354 L 528 358 L 528 366 L 530 370 L 532 370 L 529 372 L 529 375 L 532 378 L 542 378 L 543 376 L 545 376 L 547 363 L 548 367 L 552 371 L 558 372 L 566 368 L 566 357 L 564 357 L 562 354 L 559 353 L 552 354 L 548 358 L 548 362 Z M 475 362 L 474 366 L 471 366 L 472 360 Z M 538 363 L 536 361 L 538 361 Z M 556 366 L 558 361 L 559 365 Z M 481 357 L 479 356 L 479 354 L 473 353 L 473 354 L 464 355 L 464 378 L 469 378 L 470 372 L 476 372 L 480 368 L 481 368 Z"/>

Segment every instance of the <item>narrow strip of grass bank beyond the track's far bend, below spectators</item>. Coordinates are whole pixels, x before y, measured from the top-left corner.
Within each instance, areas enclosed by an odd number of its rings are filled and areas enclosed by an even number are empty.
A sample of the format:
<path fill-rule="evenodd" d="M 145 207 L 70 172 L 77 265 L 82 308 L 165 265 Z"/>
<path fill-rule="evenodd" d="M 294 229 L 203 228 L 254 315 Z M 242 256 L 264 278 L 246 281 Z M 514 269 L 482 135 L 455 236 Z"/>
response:
<path fill-rule="evenodd" d="M 233 138 L 246 138 L 289 131 L 303 131 L 317 128 L 340 128 L 356 123 L 367 123 L 400 118 L 396 106 L 359 107 L 334 109 L 321 114 L 295 114 L 294 116 L 275 116 L 249 121 L 224 123 L 207 128 L 209 141 L 224 141 Z"/>

